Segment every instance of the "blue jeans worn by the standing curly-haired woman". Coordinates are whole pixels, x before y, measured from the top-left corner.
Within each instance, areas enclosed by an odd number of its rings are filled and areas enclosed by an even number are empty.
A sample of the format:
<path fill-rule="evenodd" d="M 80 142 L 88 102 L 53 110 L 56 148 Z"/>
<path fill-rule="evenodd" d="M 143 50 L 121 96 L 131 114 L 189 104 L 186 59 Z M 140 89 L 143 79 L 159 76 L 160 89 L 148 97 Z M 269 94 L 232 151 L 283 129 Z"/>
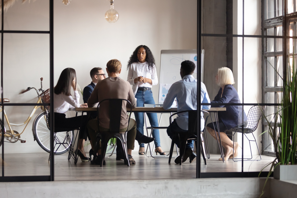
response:
<path fill-rule="evenodd" d="M 151 90 L 147 91 L 137 91 L 135 98 L 137 98 L 137 107 L 143 107 L 143 104 L 155 104 L 153 98 L 153 92 Z M 136 120 L 136 128 L 140 133 L 143 134 L 143 126 L 144 126 L 144 113 L 134 113 Z M 158 117 L 157 113 L 147 113 L 149 118 L 149 123 L 151 126 L 158 126 Z M 159 129 L 154 129 L 152 136 L 155 138 L 155 147 L 159 147 L 160 145 L 160 134 Z M 143 143 L 139 144 L 139 147 L 144 147 Z"/>

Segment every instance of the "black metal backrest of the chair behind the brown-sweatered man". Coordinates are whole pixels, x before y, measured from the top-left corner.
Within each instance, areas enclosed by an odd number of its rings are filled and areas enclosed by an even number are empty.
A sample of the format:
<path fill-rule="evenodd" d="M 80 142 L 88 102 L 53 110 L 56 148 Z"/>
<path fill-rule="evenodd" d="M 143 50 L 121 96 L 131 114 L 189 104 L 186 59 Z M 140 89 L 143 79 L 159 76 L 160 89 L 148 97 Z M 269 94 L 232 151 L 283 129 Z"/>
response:
<path fill-rule="evenodd" d="M 111 133 L 119 133 L 120 130 L 120 124 L 121 124 L 121 113 L 122 113 L 122 104 L 124 101 L 127 101 L 127 103 L 130 105 L 130 114 L 128 119 L 128 126 L 129 121 L 132 113 L 132 104 L 130 101 L 126 99 L 104 99 L 102 100 L 98 106 L 97 106 L 97 116 L 99 118 L 99 105 L 102 104 L 102 102 L 109 102 L 109 128 Z M 105 104 L 102 104 L 105 105 Z M 98 128 L 99 128 L 99 119 L 98 120 Z M 127 128 L 128 130 L 128 128 Z"/>

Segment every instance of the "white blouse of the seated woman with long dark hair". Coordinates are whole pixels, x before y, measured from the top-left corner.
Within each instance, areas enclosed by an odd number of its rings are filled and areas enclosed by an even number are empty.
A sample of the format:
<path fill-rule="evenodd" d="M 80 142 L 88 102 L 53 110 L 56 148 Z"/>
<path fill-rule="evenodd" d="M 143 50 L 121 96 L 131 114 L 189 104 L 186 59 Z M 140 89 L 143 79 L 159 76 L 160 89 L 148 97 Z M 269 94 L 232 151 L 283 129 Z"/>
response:
<path fill-rule="evenodd" d="M 73 97 L 65 94 L 54 94 L 54 112 L 66 113 L 71 107 L 80 107 L 78 91 L 74 91 Z"/>

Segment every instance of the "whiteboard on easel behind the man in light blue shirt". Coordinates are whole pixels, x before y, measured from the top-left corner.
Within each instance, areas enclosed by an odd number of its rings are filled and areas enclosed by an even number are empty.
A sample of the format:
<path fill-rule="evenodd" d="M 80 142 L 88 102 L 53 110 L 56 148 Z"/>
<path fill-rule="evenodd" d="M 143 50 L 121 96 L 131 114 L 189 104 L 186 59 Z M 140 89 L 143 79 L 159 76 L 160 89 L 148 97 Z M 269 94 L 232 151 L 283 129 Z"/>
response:
<path fill-rule="evenodd" d="M 201 50 L 201 81 L 203 82 L 204 50 Z M 196 64 L 193 76 L 197 79 L 197 50 L 161 50 L 158 104 L 166 98 L 170 86 L 181 80 L 181 62 L 193 61 Z"/>

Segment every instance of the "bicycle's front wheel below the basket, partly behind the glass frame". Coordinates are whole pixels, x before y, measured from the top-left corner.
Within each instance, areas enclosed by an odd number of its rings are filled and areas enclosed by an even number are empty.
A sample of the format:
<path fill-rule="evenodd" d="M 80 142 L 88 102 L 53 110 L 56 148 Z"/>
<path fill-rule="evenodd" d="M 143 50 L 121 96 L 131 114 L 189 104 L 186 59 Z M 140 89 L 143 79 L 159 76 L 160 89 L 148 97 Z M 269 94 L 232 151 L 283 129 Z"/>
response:
<path fill-rule="evenodd" d="M 45 113 L 42 112 L 40 113 L 37 118 L 36 121 L 34 123 L 34 128 L 33 131 L 35 133 L 36 136 L 36 141 L 38 143 L 38 145 L 40 145 L 40 147 L 45 150 L 46 152 L 50 152 L 50 130 L 47 127 L 46 124 L 46 120 L 45 120 Z M 74 141 L 74 132 L 73 131 L 69 131 L 69 140 L 68 143 L 69 145 L 72 144 L 72 142 Z M 57 132 L 55 133 L 55 142 L 56 143 L 61 143 L 65 140 L 67 136 L 67 132 Z M 64 141 L 66 142 L 66 140 Z M 56 154 L 60 155 L 63 153 L 66 153 L 67 151 L 69 151 L 69 145 L 55 145 L 54 151 L 56 151 L 56 149 L 58 148 Z"/>

